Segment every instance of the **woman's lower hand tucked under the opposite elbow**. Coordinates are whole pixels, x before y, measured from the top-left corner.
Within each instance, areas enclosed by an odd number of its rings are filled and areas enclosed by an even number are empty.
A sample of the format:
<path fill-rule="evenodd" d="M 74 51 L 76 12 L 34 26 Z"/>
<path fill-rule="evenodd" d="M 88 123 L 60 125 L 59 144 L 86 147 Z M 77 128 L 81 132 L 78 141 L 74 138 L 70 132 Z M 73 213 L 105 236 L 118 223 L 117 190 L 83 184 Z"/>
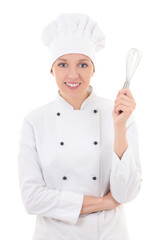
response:
<path fill-rule="evenodd" d="M 112 194 L 111 192 L 109 191 L 109 193 L 105 196 L 102 197 L 103 199 L 103 205 L 104 205 L 104 208 L 106 210 L 111 210 L 111 209 L 114 209 L 116 207 L 118 207 L 120 205 L 119 202 L 117 202 L 113 197 L 112 197 Z"/>

